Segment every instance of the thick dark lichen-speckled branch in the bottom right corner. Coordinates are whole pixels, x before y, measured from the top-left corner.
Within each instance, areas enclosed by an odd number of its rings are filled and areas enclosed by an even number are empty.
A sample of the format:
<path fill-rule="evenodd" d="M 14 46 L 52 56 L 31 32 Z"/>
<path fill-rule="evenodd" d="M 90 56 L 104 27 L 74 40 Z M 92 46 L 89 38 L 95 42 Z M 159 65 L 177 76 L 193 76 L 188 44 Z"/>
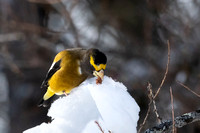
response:
<path fill-rule="evenodd" d="M 176 128 L 181 128 L 193 122 L 200 121 L 200 110 L 196 110 L 194 112 L 178 116 L 175 118 L 174 121 Z M 173 128 L 172 120 L 167 120 L 166 122 L 163 122 L 155 127 L 147 129 L 144 133 L 161 133 L 161 132 L 170 133 L 172 131 L 172 128 Z"/>

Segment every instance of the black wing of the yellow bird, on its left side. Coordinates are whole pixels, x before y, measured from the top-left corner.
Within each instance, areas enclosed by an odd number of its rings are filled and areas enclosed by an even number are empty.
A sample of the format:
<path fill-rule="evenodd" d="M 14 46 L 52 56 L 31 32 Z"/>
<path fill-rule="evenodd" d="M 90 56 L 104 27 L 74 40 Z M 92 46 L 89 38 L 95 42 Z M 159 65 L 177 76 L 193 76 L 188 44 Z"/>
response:
<path fill-rule="evenodd" d="M 60 69 L 60 63 L 61 60 L 57 61 L 53 67 L 48 71 L 44 81 L 42 82 L 41 88 L 47 88 L 48 87 L 48 81 L 53 76 L 53 74 Z"/>

